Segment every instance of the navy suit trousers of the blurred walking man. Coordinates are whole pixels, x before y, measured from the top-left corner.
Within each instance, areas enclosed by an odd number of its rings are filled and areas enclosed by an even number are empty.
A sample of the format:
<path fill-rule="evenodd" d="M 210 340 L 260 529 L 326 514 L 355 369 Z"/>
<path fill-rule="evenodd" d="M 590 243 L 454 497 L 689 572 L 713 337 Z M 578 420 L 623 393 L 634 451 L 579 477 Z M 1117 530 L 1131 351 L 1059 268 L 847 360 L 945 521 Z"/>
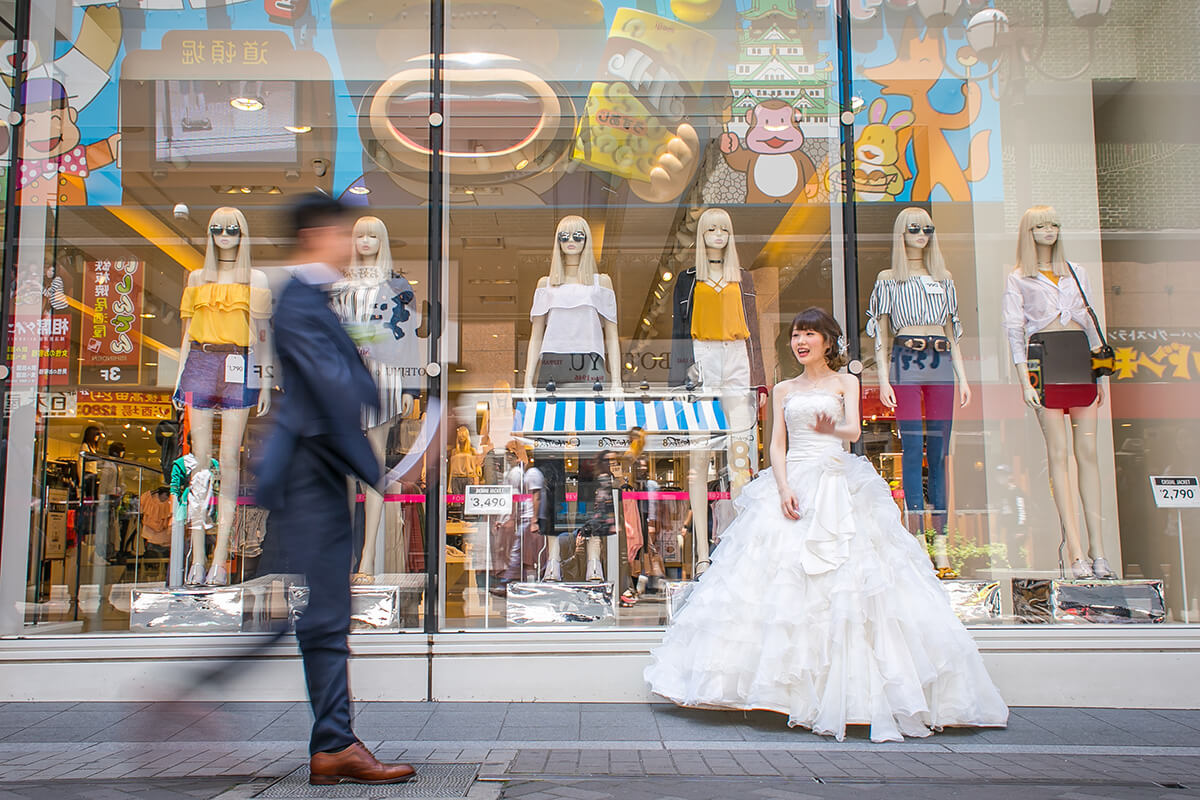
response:
<path fill-rule="evenodd" d="M 308 606 L 296 620 L 308 700 L 311 753 L 341 750 L 358 739 L 350 726 L 352 525 L 346 475 L 324 457 L 318 439 L 301 438 L 293 452 L 284 504 L 268 517 L 264 542 L 270 571 L 302 573 Z"/>

